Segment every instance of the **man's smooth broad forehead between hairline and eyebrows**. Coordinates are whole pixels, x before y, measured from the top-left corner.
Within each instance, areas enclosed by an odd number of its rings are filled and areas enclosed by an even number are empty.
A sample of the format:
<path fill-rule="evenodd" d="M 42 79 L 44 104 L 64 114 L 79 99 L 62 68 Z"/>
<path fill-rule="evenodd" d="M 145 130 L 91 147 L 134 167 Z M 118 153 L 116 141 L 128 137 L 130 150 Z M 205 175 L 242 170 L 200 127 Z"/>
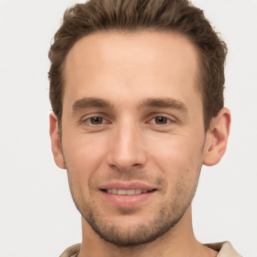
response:
<path fill-rule="evenodd" d="M 190 97 L 190 90 L 198 93 L 197 57 L 187 38 L 172 33 L 111 31 L 85 36 L 66 58 L 64 104 L 65 95 L 70 101 L 106 98 L 106 93 L 113 99 Z"/>

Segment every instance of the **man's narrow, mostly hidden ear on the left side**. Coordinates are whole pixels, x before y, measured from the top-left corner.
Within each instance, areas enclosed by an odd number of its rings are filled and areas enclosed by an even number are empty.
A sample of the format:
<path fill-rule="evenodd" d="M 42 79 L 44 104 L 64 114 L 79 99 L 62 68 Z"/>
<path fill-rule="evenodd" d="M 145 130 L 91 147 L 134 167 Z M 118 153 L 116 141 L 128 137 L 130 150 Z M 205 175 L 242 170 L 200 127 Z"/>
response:
<path fill-rule="evenodd" d="M 63 153 L 62 153 L 61 141 L 57 132 L 57 117 L 52 112 L 50 113 L 49 118 L 50 118 L 50 138 L 51 138 L 52 153 L 54 156 L 54 161 L 59 168 L 66 169 Z"/>

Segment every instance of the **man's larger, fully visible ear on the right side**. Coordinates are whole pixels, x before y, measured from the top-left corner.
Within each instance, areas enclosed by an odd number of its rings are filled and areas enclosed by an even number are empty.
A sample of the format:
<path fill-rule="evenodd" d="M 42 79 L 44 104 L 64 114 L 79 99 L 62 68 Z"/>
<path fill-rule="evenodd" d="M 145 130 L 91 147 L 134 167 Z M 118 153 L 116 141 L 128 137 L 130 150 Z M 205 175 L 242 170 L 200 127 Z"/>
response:
<path fill-rule="evenodd" d="M 230 130 L 231 116 L 228 108 L 223 107 L 213 118 L 206 135 L 203 164 L 213 166 L 224 155 Z"/>

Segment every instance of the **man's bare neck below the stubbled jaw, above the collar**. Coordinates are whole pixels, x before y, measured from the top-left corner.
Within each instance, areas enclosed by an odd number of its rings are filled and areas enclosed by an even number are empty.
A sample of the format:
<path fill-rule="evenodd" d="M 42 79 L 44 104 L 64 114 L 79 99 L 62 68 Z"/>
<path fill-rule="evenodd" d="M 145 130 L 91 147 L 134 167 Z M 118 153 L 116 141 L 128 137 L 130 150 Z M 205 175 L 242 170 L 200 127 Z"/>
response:
<path fill-rule="evenodd" d="M 156 240 L 138 246 L 122 247 L 106 242 L 82 218 L 82 244 L 78 257 L 166 257 L 216 256 L 217 252 L 199 243 L 193 233 L 191 206 L 179 222 Z"/>

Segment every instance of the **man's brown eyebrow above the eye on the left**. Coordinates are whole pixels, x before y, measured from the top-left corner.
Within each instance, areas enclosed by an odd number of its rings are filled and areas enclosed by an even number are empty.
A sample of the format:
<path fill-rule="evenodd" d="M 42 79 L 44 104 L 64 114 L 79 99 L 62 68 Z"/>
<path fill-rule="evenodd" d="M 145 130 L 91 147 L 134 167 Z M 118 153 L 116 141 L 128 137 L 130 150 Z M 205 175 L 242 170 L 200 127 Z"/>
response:
<path fill-rule="evenodd" d="M 72 104 L 71 109 L 73 112 L 76 112 L 78 110 L 86 109 L 90 107 L 112 108 L 113 104 L 101 98 L 85 97 L 85 98 L 76 100 Z"/>

